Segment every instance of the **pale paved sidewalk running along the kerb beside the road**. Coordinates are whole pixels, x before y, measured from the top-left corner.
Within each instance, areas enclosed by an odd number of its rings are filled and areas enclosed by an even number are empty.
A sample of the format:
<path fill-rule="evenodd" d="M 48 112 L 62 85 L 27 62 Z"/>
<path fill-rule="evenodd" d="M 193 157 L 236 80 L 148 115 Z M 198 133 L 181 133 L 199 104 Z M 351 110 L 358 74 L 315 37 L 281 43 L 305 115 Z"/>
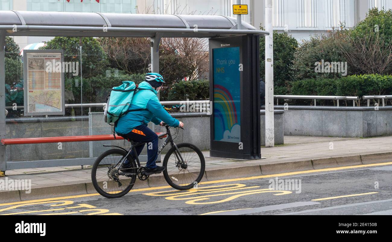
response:
<path fill-rule="evenodd" d="M 260 173 L 260 175 L 265 175 L 268 173 L 275 174 L 273 173 L 275 171 L 286 172 L 284 169 L 287 169 L 287 171 L 293 171 L 293 169 L 319 169 L 323 168 L 325 165 L 325 159 L 330 157 L 339 158 L 339 156 L 353 156 L 354 160 L 349 161 L 348 164 L 343 164 L 342 161 L 339 163 L 339 160 L 337 160 L 334 161 L 337 164 L 335 166 L 362 164 L 361 157 L 355 155 L 386 153 L 392 151 L 392 136 L 376 138 L 285 136 L 285 143 L 285 145 L 280 145 L 273 148 L 262 147 L 261 156 L 265 158 L 259 160 L 244 161 L 225 158 L 211 158 L 209 157 L 209 151 L 203 151 L 206 161 L 207 179 L 212 179 L 212 177 L 215 176 L 215 174 L 212 175 L 212 173 L 209 173 L 209 171 L 217 171 L 220 169 L 225 170 L 226 173 L 228 169 L 231 170 L 232 173 L 235 171 L 235 174 L 227 174 L 228 177 L 230 177 L 230 175 L 252 176 L 253 173 Z M 384 160 L 385 157 L 387 161 L 392 161 L 392 157 L 390 160 L 388 160 L 389 154 L 384 156 Z M 369 158 L 371 157 L 369 156 Z M 306 165 L 299 165 L 297 168 L 292 168 L 294 167 L 292 165 L 294 163 L 287 163 L 305 161 L 307 162 Z M 285 165 L 281 165 L 281 167 L 279 167 L 279 164 Z M 260 168 L 257 168 L 255 165 L 260 165 Z M 267 165 L 265 166 L 265 171 L 263 170 L 264 168 L 262 168 L 263 165 Z M 251 169 L 250 166 L 252 166 Z M 66 184 L 87 184 L 91 183 L 90 167 L 91 166 L 85 166 L 84 169 L 81 169 L 80 166 L 73 166 L 9 170 L 6 171 L 6 176 L 0 177 L 0 179 L 30 179 L 33 189 L 34 187 L 44 188 Z M 249 167 L 249 169 L 247 169 L 247 167 Z M 280 170 L 276 167 L 279 167 Z M 235 170 L 231 168 L 234 168 Z M 211 175 L 209 176 L 209 174 Z M 158 185 L 155 182 L 150 181 L 145 184 L 147 184 L 145 186 Z M 86 188 L 85 190 L 88 189 Z M 89 191 L 87 191 L 87 193 L 89 193 Z"/>

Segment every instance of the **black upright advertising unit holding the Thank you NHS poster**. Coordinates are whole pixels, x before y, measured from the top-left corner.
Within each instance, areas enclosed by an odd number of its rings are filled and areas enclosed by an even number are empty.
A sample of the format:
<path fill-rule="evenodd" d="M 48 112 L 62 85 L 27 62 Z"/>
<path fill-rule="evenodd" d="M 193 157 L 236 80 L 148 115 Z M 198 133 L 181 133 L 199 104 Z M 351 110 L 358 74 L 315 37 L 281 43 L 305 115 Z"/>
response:
<path fill-rule="evenodd" d="M 261 157 L 259 42 L 255 35 L 210 39 L 212 157 Z"/>

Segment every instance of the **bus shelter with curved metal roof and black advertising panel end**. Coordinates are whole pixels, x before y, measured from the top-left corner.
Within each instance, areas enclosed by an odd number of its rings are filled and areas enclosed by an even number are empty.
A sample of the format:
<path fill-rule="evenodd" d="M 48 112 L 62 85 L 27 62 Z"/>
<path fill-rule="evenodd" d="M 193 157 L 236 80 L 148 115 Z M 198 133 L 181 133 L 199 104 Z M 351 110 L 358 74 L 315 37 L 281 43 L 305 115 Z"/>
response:
<path fill-rule="evenodd" d="M 161 38 L 209 38 L 211 156 L 257 158 L 260 157 L 258 40 L 267 35 L 268 32 L 246 22 L 237 29 L 236 19 L 227 16 L 0 11 L 0 110 L 5 110 L 5 36 L 147 37 L 151 38 L 152 72 L 159 72 Z M 0 115 L 0 138 L 7 138 L 5 115 Z M 243 148 L 238 149 L 241 143 Z M 5 146 L 0 145 L 0 171 L 7 169 L 5 151 Z M 49 166 L 45 162 L 40 164 Z"/>

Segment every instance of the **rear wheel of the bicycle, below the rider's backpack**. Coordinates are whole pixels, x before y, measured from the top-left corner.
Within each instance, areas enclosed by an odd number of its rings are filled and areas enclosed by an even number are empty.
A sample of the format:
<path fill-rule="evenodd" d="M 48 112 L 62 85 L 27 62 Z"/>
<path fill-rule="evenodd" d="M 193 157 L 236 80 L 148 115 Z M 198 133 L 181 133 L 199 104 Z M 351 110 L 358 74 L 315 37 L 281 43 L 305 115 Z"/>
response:
<path fill-rule="evenodd" d="M 100 155 L 94 162 L 91 171 L 91 180 L 96 191 L 103 197 L 117 198 L 127 194 L 136 181 L 137 167 L 133 158 L 129 157 L 131 164 L 125 172 L 134 175 L 119 175 L 116 173 L 120 164 L 117 163 L 127 153 L 121 149 L 110 149 Z"/>

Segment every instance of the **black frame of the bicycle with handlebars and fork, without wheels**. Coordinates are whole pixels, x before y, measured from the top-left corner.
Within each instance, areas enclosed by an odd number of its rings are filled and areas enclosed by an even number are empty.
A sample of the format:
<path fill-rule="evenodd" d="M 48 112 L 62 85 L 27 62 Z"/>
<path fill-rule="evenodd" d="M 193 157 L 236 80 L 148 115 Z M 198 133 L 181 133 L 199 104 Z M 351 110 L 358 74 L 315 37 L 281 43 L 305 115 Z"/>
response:
<path fill-rule="evenodd" d="M 180 151 L 178 150 L 177 145 L 174 143 L 173 137 L 172 137 L 172 135 L 171 135 L 170 126 L 165 125 L 165 127 L 166 127 L 166 132 L 163 133 L 163 134 L 158 135 L 158 138 L 163 137 L 163 136 L 166 136 L 166 135 L 167 135 L 168 137 L 167 137 L 166 140 L 163 142 L 163 144 L 158 148 L 158 155 L 161 153 L 161 151 L 163 150 L 163 148 L 164 148 L 165 146 L 167 146 L 167 144 L 170 143 L 172 147 L 173 147 L 173 146 L 176 147 L 176 151 L 174 152 L 174 154 L 176 155 L 177 159 L 178 159 L 179 161 L 181 161 L 181 163 L 183 163 L 184 160 L 183 160 L 183 158 L 182 158 L 182 156 L 181 156 Z M 137 153 L 136 153 L 136 147 L 137 147 L 137 146 L 140 146 L 140 145 L 142 145 L 142 144 L 145 144 L 145 142 L 134 143 L 132 140 L 129 140 L 129 142 L 131 142 L 131 147 L 129 148 L 129 150 L 126 150 L 126 149 L 124 149 L 123 147 L 120 147 L 120 146 L 113 146 L 113 145 L 103 145 L 103 146 L 105 146 L 105 147 L 118 147 L 118 148 L 120 148 L 120 149 L 126 151 L 126 152 L 127 152 L 127 155 L 125 155 L 124 157 L 128 157 L 128 156 L 131 154 L 131 152 L 133 151 L 134 154 L 135 154 L 135 156 L 136 156 L 136 162 L 137 162 L 137 164 L 138 164 L 138 169 L 139 169 L 139 168 L 141 167 L 141 165 L 140 165 L 139 157 L 138 157 L 138 155 L 137 155 Z M 117 168 L 117 171 L 116 171 L 116 172 L 118 173 L 118 175 L 136 175 L 137 173 L 134 174 L 134 173 L 120 172 L 120 167 L 122 166 L 122 164 L 123 164 L 124 161 L 125 161 L 124 157 L 121 158 L 121 160 L 120 160 L 119 162 L 117 162 L 116 166 L 118 166 L 118 168 Z"/>

